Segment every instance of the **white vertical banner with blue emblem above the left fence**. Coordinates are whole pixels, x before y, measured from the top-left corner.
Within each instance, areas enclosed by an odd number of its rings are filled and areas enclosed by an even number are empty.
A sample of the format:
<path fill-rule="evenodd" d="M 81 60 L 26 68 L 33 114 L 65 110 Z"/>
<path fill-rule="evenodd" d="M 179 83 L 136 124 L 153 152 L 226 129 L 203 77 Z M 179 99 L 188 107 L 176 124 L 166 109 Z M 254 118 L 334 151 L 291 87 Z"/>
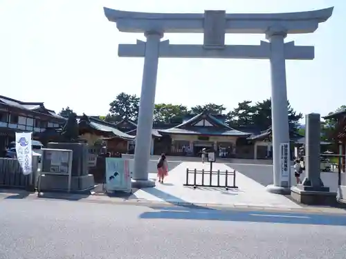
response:
<path fill-rule="evenodd" d="M 16 153 L 24 175 L 33 172 L 33 141 L 32 132 L 16 133 Z"/>

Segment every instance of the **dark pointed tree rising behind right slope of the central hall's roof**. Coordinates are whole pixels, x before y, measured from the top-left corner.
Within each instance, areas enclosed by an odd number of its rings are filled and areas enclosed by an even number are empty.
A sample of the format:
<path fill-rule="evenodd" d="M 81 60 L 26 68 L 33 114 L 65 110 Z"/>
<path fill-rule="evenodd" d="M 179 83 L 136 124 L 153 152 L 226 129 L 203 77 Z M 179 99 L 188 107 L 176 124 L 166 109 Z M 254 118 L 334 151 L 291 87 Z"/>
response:
<path fill-rule="evenodd" d="M 255 108 L 251 101 L 245 100 L 238 103 L 238 107 L 227 114 L 227 122 L 230 126 L 249 126 L 253 124 Z"/>

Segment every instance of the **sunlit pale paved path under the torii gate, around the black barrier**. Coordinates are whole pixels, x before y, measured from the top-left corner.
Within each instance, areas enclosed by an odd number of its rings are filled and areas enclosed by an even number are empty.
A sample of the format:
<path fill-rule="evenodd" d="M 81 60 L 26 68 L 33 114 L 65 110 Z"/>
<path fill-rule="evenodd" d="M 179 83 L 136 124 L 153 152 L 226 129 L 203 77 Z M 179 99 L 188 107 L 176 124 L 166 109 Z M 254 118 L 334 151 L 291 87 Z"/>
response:
<path fill-rule="evenodd" d="M 268 193 L 264 186 L 255 182 L 251 178 L 246 177 L 242 173 L 237 173 L 236 185 L 239 189 L 230 189 L 226 191 L 224 188 L 207 188 L 201 187 L 193 189 L 192 187 L 183 186 L 186 179 L 186 169 L 208 170 L 210 164 L 202 164 L 201 162 L 183 162 L 172 169 L 169 173 L 165 184 L 156 184 L 155 188 L 140 189 L 134 193 L 131 198 L 141 200 L 165 201 L 165 202 L 189 202 L 194 204 L 244 204 L 248 206 L 265 206 L 265 207 L 287 207 L 299 208 L 298 204 L 292 202 L 288 198 L 273 193 Z M 226 170 L 233 171 L 225 164 L 214 164 L 213 171 Z M 150 178 L 156 178 L 155 173 L 150 174 Z M 228 180 L 233 182 L 233 177 Z M 193 176 L 190 176 L 190 183 L 193 182 Z M 201 175 L 197 178 L 197 183 L 201 182 Z M 206 176 L 206 184 L 210 182 Z M 217 183 L 217 176 L 212 178 L 213 183 Z M 221 176 L 220 183 L 224 184 L 225 177 Z"/>

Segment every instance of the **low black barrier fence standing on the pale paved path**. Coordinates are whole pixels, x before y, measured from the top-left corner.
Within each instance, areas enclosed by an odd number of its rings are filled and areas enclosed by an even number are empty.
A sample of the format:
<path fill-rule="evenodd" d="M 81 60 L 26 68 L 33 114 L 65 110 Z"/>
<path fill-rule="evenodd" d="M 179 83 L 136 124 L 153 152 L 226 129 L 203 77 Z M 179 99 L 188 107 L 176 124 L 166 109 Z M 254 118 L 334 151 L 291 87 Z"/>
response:
<path fill-rule="evenodd" d="M 198 176 L 198 178 L 197 178 Z M 233 178 L 233 181 L 229 180 L 229 177 Z M 214 188 L 225 188 L 228 189 L 237 189 L 238 186 L 235 185 L 235 171 L 205 171 L 202 170 L 189 170 L 186 169 L 186 182 L 184 186 L 193 186 L 194 189 L 197 187 L 214 187 Z M 192 177 L 192 179 L 191 179 Z M 224 178 L 222 181 L 221 178 Z M 216 181 L 216 184 L 215 184 Z M 221 182 L 223 182 L 221 184 Z M 230 185 L 232 182 L 232 185 Z"/>

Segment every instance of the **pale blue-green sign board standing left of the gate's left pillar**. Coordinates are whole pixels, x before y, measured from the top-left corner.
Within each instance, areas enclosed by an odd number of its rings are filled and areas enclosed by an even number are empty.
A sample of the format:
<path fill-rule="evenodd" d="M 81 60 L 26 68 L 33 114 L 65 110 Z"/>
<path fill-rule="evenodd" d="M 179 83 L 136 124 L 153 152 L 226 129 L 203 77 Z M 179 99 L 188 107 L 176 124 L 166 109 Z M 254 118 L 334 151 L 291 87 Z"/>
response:
<path fill-rule="evenodd" d="M 131 192 L 129 160 L 118 157 L 106 158 L 107 191 Z"/>

